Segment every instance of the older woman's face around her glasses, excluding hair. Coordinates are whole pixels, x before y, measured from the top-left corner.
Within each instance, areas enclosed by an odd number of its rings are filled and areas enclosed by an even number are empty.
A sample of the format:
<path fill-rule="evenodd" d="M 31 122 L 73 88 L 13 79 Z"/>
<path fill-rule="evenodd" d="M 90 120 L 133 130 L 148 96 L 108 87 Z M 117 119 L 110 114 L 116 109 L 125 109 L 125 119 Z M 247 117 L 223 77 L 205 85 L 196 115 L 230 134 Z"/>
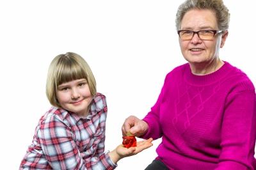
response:
<path fill-rule="evenodd" d="M 219 30 L 216 15 L 211 10 L 190 10 L 180 22 L 180 30 Z M 197 34 L 191 40 L 180 40 L 182 55 L 189 63 L 209 63 L 218 58 L 218 53 L 227 38 L 227 31 L 216 34 L 212 40 L 201 40 Z"/>

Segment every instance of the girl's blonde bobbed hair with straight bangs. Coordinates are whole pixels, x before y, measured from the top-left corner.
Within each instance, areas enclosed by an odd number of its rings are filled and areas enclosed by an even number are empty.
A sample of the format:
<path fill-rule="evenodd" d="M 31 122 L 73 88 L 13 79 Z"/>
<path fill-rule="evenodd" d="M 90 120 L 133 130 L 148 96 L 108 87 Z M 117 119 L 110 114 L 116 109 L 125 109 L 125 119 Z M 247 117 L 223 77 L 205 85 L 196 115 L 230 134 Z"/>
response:
<path fill-rule="evenodd" d="M 74 52 L 56 56 L 49 66 L 46 81 L 46 95 L 49 102 L 60 107 L 56 95 L 58 86 L 77 79 L 86 79 L 92 96 L 96 95 L 96 81 L 92 70 L 81 56 Z"/>

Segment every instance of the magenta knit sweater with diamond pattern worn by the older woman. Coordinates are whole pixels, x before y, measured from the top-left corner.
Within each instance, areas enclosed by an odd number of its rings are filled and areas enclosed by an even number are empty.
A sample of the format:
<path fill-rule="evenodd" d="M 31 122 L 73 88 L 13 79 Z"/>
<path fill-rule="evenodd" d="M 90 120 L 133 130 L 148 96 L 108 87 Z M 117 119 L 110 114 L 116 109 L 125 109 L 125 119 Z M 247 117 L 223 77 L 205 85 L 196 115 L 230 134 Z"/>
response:
<path fill-rule="evenodd" d="M 157 159 L 170 169 L 256 168 L 255 88 L 227 62 L 208 75 L 193 75 L 188 63 L 172 70 L 143 120 L 143 138 L 162 137 Z"/>

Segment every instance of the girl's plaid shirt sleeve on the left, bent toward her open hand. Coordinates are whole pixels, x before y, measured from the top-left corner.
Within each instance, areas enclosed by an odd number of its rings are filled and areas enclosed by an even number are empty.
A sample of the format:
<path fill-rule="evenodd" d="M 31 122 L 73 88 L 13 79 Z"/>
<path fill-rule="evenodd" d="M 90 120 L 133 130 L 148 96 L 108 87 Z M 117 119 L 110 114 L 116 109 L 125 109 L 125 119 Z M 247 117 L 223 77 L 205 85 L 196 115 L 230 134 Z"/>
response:
<path fill-rule="evenodd" d="M 45 121 L 38 137 L 47 162 L 52 169 L 115 169 L 108 154 L 83 158 L 73 139 L 72 129 L 56 116 Z"/>

